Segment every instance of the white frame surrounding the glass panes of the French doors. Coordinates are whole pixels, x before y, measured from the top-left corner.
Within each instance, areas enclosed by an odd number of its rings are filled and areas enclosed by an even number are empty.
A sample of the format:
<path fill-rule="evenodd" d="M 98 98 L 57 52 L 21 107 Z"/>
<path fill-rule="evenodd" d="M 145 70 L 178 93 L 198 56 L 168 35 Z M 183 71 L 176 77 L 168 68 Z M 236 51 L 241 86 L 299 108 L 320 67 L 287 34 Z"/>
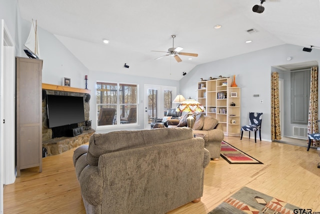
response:
<path fill-rule="evenodd" d="M 162 113 L 164 112 L 164 105 L 163 105 L 163 91 L 164 90 L 170 90 L 172 91 L 172 99 L 175 98 L 176 96 L 176 87 L 175 86 L 160 86 L 160 85 L 144 85 L 144 119 L 143 119 L 143 124 L 144 124 L 144 129 L 149 129 L 150 124 L 148 124 L 148 89 L 155 89 L 158 90 L 158 97 L 157 97 L 157 115 L 155 115 L 157 118 L 162 118 Z"/>

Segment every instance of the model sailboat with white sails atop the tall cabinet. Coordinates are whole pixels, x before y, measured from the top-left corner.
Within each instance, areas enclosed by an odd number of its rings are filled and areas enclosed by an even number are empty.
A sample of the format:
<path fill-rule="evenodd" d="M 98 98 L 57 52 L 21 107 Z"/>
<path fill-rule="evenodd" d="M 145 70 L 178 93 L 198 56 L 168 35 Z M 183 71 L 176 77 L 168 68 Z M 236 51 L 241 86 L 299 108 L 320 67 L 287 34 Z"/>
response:
<path fill-rule="evenodd" d="M 39 46 L 38 46 L 36 20 L 34 21 L 32 19 L 30 33 L 28 38 L 26 39 L 24 46 L 27 48 L 27 50 L 24 50 L 24 52 L 29 58 L 39 59 L 40 53 L 39 53 Z"/>

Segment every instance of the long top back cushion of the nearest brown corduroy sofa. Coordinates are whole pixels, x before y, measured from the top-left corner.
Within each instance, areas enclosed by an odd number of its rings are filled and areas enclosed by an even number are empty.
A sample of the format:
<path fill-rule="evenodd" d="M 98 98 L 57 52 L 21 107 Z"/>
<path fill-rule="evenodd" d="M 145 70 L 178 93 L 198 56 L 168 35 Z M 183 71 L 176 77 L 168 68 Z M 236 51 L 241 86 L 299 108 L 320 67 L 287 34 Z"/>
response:
<path fill-rule="evenodd" d="M 96 166 L 101 154 L 193 138 L 190 128 L 157 128 L 94 133 L 89 139 L 86 162 Z"/>

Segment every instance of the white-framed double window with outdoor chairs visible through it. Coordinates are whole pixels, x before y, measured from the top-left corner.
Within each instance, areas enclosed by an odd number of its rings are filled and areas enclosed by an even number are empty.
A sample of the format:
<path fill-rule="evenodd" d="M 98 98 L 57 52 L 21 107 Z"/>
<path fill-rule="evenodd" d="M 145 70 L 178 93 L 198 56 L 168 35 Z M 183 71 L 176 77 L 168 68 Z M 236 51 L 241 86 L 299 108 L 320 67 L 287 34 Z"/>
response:
<path fill-rule="evenodd" d="M 96 83 L 97 125 L 137 122 L 137 85 Z"/>

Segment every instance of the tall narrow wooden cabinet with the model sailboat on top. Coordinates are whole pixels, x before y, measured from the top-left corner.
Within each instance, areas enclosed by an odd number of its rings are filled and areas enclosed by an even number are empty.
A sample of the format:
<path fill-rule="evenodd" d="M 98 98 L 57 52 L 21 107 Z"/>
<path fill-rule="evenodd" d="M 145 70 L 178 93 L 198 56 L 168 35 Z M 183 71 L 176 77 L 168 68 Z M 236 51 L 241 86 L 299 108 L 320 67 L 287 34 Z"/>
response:
<path fill-rule="evenodd" d="M 42 60 L 16 57 L 16 171 L 42 171 Z"/>

